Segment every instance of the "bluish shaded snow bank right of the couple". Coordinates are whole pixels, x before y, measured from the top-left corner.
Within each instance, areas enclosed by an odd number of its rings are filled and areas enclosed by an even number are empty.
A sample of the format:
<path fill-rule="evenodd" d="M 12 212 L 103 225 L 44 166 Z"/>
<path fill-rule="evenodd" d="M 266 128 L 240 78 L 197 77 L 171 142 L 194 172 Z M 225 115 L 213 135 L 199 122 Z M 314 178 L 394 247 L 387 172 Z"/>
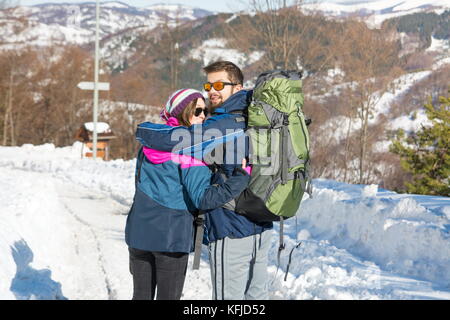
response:
<path fill-rule="evenodd" d="M 450 287 L 450 198 L 316 180 L 299 223 L 384 270 Z"/>

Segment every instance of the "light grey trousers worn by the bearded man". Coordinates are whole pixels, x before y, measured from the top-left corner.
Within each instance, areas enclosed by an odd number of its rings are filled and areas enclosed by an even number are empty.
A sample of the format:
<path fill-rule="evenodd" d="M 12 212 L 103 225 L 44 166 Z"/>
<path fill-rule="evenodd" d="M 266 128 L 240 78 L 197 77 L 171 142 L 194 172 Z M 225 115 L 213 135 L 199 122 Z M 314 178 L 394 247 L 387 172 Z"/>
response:
<path fill-rule="evenodd" d="M 208 245 L 213 300 L 267 300 L 272 231 Z"/>

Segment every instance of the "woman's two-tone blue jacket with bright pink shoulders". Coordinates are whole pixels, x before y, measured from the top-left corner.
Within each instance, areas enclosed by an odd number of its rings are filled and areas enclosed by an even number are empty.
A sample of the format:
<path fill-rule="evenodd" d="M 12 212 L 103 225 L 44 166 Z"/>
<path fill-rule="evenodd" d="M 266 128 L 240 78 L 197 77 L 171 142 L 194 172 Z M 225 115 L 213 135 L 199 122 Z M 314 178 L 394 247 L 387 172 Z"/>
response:
<path fill-rule="evenodd" d="M 250 176 L 235 170 L 223 184 L 211 185 L 211 171 L 201 161 L 141 148 L 136 161 L 136 192 L 125 241 L 129 247 L 158 252 L 193 250 L 194 215 L 238 196 Z"/>

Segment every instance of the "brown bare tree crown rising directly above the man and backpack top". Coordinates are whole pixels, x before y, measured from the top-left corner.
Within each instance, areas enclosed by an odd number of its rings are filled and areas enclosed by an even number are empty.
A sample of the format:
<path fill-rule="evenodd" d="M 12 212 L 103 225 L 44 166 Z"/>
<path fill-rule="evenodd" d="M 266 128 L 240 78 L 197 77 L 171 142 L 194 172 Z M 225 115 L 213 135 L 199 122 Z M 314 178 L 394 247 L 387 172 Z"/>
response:
<path fill-rule="evenodd" d="M 332 62 L 333 33 L 318 12 L 302 11 L 303 0 L 252 0 L 252 14 L 241 14 L 225 24 L 230 45 L 246 53 L 263 51 L 265 69 L 320 70 Z M 327 39 L 324 41 L 324 39 Z M 261 71 L 261 70 L 260 70 Z"/>

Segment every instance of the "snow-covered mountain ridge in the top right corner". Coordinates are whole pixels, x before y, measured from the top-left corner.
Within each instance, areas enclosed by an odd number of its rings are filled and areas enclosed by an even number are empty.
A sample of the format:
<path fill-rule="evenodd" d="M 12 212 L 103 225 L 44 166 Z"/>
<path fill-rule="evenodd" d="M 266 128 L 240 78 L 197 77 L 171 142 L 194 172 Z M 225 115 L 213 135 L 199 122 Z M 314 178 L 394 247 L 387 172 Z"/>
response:
<path fill-rule="evenodd" d="M 441 13 L 445 9 L 450 9 L 450 2 L 448 0 L 374 0 L 332 3 L 325 0 L 305 4 L 304 8 L 309 11 L 321 11 L 331 17 L 359 16 L 368 25 L 379 27 L 386 19 L 415 12 Z"/>

